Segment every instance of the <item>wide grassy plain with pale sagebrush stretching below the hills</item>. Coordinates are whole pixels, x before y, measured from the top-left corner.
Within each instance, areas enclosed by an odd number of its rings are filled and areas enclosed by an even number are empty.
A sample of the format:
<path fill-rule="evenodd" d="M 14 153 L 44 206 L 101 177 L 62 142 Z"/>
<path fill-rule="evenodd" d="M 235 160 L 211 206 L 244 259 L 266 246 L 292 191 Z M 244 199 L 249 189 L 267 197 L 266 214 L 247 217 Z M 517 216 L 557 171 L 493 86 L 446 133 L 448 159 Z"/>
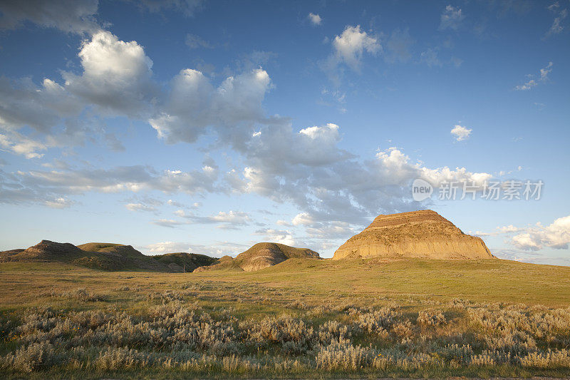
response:
<path fill-rule="evenodd" d="M 257 272 L 0 263 L 0 376 L 570 376 L 570 267 L 291 259 Z"/>

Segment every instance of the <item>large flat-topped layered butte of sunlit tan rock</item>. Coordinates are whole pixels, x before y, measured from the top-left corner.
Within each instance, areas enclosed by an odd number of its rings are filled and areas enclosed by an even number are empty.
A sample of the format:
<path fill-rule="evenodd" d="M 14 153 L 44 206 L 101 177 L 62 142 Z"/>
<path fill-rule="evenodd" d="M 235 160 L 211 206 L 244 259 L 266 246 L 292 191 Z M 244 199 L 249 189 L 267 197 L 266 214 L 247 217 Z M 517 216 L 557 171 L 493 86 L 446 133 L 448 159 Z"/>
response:
<path fill-rule="evenodd" d="M 480 237 L 465 235 L 432 210 L 379 215 L 334 253 L 346 257 L 420 257 L 440 260 L 494 258 Z"/>

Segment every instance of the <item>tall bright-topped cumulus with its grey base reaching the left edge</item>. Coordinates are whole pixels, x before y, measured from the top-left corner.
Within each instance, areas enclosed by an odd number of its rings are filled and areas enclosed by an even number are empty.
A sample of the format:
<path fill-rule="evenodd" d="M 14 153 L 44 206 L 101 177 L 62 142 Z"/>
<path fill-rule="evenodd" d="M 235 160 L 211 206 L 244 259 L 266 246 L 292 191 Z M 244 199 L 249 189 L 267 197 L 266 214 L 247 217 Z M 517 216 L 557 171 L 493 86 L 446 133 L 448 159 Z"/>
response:
<path fill-rule="evenodd" d="M 35 158 L 42 154 L 38 150 L 73 147 L 94 136 L 113 150 L 124 150 L 116 135 L 92 120 L 96 115 L 152 114 L 152 61 L 138 43 L 120 41 L 108 31 L 97 31 L 83 41 L 78 56 L 83 71 L 63 72 L 63 84 L 44 78 L 37 86 L 31 78 L 0 77 L 4 148 Z M 34 143 L 17 134 L 25 127 L 39 134 Z"/>

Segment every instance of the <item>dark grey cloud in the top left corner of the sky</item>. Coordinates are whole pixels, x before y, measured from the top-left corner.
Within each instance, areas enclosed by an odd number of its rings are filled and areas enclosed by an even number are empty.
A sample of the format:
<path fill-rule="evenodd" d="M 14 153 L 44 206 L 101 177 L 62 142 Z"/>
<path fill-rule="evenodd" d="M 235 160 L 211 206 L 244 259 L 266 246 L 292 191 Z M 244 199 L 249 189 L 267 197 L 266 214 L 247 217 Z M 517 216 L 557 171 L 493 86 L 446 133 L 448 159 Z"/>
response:
<path fill-rule="evenodd" d="M 17 29 L 25 21 L 66 33 L 93 33 L 98 0 L 3 0 L 0 2 L 0 29 Z"/>

